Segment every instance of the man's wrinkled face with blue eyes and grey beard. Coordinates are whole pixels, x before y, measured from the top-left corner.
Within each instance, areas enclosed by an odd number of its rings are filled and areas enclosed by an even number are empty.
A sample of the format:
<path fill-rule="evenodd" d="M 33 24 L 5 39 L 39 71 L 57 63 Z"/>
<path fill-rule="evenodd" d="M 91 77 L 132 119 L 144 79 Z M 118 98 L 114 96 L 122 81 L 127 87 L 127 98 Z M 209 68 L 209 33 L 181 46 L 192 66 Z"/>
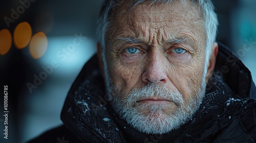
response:
<path fill-rule="evenodd" d="M 206 39 L 196 6 L 148 5 L 131 13 L 127 5 L 115 10 L 106 34 L 106 82 L 113 108 L 127 123 L 141 132 L 165 133 L 199 106 Z"/>

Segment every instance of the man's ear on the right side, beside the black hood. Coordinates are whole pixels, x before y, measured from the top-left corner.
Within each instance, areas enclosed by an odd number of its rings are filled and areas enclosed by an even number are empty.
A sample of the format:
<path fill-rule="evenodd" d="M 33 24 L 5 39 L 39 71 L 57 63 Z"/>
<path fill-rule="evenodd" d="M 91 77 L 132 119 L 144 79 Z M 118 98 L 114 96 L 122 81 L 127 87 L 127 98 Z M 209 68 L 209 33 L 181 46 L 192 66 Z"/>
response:
<path fill-rule="evenodd" d="M 210 59 L 208 62 L 208 68 L 207 68 L 207 74 L 206 74 L 206 78 L 205 78 L 205 82 L 208 83 L 210 77 L 212 76 L 212 74 L 214 73 L 214 68 L 215 68 L 215 63 L 216 63 L 216 57 L 218 54 L 218 43 L 215 42 L 214 44 L 212 44 L 211 47 L 211 55 L 210 55 Z"/>

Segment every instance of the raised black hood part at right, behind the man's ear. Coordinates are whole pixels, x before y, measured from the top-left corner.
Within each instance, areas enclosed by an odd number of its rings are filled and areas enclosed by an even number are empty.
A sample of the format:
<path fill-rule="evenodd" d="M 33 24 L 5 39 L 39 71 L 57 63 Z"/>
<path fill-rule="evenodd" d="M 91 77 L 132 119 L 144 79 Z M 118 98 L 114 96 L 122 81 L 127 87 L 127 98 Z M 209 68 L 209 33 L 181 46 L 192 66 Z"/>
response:
<path fill-rule="evenodd" d="M 219 44 L 215 72 L 242 98 L 256 99 L 256 88 L 250 70 L 236 57 L 227 46 Z"/>

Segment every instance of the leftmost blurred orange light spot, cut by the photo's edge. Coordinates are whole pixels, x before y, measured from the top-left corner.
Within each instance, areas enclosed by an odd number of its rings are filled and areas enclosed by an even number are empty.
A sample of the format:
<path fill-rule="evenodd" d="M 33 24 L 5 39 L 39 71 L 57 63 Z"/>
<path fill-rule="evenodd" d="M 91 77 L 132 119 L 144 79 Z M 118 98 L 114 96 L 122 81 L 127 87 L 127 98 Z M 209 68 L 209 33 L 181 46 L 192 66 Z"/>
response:
<path fill-rule="evenodd" d="M 12 35 L 8 29 L 0 31 L 0 54 L 5 55 L 12 45 Z"/>

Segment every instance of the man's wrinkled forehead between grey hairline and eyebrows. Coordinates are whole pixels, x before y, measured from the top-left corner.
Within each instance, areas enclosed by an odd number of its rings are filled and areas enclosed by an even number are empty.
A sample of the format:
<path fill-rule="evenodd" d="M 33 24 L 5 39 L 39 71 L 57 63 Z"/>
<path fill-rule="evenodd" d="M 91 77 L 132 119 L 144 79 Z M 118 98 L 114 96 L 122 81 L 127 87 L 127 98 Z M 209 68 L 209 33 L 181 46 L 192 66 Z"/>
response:
<path fill-rule="evenodd" d="M 139 4 L 132 11 L 131 4 L 125 3 L 115 10 L 110 31 L 111 35 L 107 36 L 112 38 L 120 35 L 146 38 L 145 35 L 152 33 L 160 33 L 156 34 L 160 38 L 180 36 L 180 33 L 204 35 L 201 11 L 189 1 Z"/>

